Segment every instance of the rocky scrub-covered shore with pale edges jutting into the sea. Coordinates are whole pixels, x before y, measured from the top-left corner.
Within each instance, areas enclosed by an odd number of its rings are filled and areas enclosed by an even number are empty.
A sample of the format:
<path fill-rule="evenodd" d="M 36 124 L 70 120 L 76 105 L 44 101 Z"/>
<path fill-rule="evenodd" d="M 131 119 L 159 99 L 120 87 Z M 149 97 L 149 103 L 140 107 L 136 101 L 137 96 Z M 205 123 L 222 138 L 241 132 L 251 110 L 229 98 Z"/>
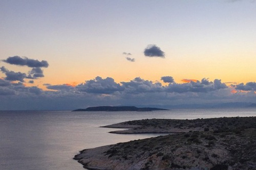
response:
<path fill-rule="evenodd" d="M 94 149 L 74 159 L 87 169 L 256 169 L 256 117 L 140 120 L 104 127 L 111 133 L 173 133 Z"/>

